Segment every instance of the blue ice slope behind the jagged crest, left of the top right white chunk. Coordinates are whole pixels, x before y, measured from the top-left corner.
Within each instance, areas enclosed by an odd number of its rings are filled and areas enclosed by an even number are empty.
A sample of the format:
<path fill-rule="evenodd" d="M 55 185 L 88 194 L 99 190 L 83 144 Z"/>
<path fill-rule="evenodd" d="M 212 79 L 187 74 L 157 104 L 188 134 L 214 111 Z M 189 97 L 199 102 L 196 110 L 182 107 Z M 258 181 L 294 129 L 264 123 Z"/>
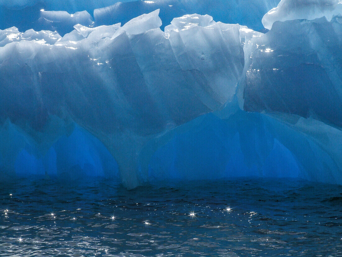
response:
<path fill-rule="evenodd" d="M 118 2 L 94 10 L 97 25 L 125 23 L 133 17 L 160 9 L 161 28 L 167 26 L 175 17 L 197 13 L 210 15 L 223 23 L 239 23 L 252 29 L 263 28 L 262 16 L 279 3 L 279 0 L 157 0 Z M 253 7 L 253 11 L 247 6 Z"/>

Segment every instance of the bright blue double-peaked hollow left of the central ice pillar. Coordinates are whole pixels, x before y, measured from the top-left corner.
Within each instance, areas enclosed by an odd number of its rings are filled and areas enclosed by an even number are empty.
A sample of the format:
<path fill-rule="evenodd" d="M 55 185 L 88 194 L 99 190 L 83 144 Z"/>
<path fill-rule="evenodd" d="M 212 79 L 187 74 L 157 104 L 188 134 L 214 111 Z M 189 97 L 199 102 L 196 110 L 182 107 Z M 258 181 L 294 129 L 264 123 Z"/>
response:
<path fill-rule="evenodd" d="M 0 129 L 0 178 L 43 175 L 78 180 L 101 176 L 119 180 L 118 165 L 107 148 L 73 122 L 51 116 L 40 131 L 23 130 L 6 120 Z"/>

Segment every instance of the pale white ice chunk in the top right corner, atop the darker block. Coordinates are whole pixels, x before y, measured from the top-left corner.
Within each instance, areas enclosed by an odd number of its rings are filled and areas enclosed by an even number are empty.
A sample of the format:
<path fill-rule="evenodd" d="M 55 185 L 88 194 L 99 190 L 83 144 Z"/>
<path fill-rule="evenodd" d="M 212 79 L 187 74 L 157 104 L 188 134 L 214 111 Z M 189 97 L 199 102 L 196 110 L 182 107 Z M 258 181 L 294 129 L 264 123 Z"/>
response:
<path fill-rule="evenodd" d="M 276 21 L 314 20 L 323 16 L 331 21 L 333 16 L 340 14 L 342 3 L 339 0 L 281 0 L 277 7 L 264 15 L 262 24 L 271 29 Z"/>

